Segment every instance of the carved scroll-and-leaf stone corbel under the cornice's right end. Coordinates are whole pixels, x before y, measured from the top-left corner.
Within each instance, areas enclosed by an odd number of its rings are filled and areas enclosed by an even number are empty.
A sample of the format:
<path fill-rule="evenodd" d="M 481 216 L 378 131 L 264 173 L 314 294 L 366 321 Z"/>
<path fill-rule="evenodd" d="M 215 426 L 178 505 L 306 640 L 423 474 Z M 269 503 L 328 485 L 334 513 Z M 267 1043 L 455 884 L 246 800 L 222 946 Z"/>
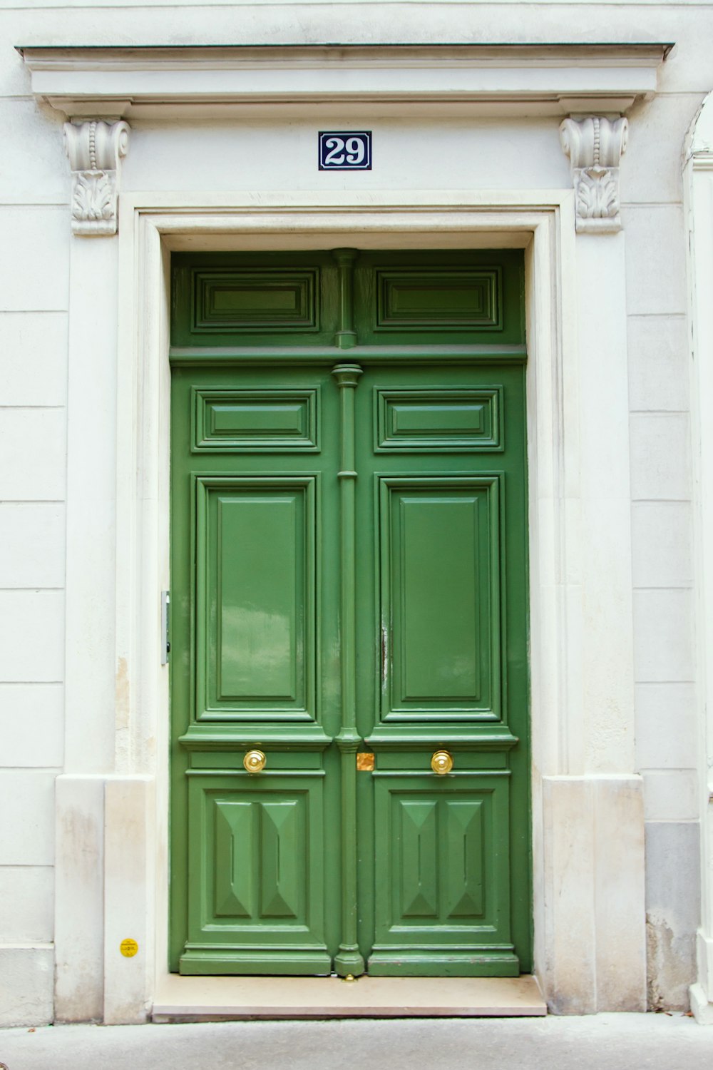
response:
<path fill-rule="evenodd" d="M 577 230 L 621 230 L 619 160 L 626 149 L 627 119 L 564 119 L 559 139 L 570 157 Z"/>

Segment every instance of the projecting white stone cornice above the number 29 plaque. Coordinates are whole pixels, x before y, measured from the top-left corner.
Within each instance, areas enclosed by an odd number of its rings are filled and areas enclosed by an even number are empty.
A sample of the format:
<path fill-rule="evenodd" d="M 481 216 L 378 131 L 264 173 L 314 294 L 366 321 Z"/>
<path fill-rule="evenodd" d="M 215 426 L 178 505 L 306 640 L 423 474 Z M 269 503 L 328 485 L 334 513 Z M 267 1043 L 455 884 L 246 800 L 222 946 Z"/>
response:
<path fill-rule="evenodd" d="M 19 48 L 32 92 L 83 119 L 279 114 L 368 103 L 433 114 L 621 114 L 668 44 Z M 378 113 L 378 112 L 377 112 Z"/>

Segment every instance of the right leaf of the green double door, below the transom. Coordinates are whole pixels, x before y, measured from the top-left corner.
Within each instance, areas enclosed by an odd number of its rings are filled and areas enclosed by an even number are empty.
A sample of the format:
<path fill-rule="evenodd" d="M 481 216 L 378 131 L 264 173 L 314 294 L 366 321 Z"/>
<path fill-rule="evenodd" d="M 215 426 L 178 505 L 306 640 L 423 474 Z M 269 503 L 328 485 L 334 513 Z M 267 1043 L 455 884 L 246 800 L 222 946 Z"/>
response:
<path fill-rule="evenodd" d="M 528 823 L 518 764 L 523 391 L 520 366 L 445 360 L 370 368 L 359 382 L 358 705 L 373 798 L 358 786 L 370 811 L 362 857 L 373 856 L 362 910 L 371 974 L 527 968 L 517 930 L 529 896 L 511 881 Z M 440 749 L 452 760 L 445 774 L 431 765 Z M 513 836 L 513 813 L 523 835 Z"/>

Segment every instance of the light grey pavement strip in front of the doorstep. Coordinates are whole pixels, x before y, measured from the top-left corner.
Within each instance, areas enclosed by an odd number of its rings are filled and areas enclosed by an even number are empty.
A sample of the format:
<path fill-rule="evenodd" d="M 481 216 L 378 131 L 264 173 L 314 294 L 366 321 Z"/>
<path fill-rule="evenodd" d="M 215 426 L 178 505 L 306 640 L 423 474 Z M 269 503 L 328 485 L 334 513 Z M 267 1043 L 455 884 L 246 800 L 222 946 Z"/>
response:
<path fill-rule="evenodd" d="M 0 1029 L 7 1070 L 713 1070 L 682 1014 L 59 1025 Z"/>

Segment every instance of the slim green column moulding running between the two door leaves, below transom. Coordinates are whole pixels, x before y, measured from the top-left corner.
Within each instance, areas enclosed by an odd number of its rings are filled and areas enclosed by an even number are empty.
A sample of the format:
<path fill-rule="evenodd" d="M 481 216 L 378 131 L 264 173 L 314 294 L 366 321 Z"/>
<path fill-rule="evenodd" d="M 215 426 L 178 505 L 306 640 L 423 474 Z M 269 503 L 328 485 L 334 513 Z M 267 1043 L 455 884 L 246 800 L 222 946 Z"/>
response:
<path fill-rule="evenodd" d="M 348 250 L 351 251 L 351 250 Z M 352 258 L 353 262 L 353 258 Z M 350 268 L 351 274 L 351 268 Z M 341 393 L 341 694 L 342 718 L 337 746 L 342 762 L 342 938 L 335 959 L 340 977 L 363 974 L 363 958 L 357 944 L 357 843 L 356 843 L 356 471 L 355 391 L 361 374 L 356 364 L 338 364 L 332 370 Z"/>

